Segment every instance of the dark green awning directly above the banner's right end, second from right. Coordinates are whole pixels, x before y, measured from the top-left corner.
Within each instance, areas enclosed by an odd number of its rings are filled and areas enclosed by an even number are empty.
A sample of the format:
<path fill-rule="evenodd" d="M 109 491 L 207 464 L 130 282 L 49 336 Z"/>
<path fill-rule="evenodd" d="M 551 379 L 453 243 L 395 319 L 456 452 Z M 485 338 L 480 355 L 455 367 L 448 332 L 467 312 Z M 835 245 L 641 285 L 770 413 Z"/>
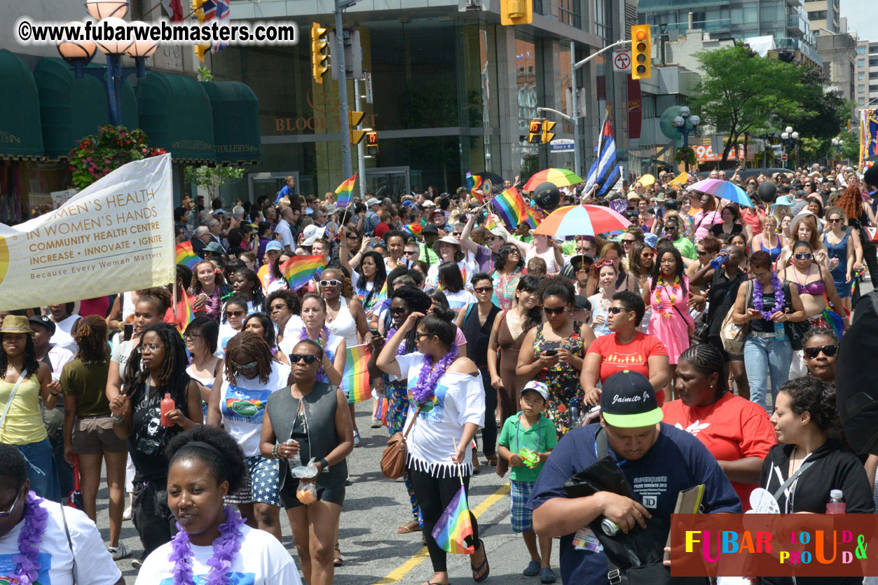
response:
<path fill-rule="evenodd" d="M 215 163 L 211 100 L 194 77 L 150 71 L 137 84 L 140 129 L 177 161 Z"/>

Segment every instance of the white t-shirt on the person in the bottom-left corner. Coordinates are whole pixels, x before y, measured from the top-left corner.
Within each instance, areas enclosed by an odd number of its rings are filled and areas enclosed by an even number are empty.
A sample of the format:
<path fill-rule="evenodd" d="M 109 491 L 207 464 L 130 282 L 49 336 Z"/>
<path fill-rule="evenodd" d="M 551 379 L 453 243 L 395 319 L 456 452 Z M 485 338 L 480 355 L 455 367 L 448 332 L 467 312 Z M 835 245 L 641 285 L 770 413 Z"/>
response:
<path fill-rule="evenodd" d="M 61 505 L 43 500 L 40 508 L 47 509 L 49 516 L 46 531 L 37 544 L 41 565 L 37 581 L 43 585 L 72 585 L 74 577 L 77 583 L 89 585 L 114 585 L 119 581 L 122 573 L 104 547 L 104 538 L 89 516 L 78 509 L 64 509 L 73 552 L 76 554 L 74 566 L 61 519 Z M 19 522 L 0 538 L 0 582 L 9 581 L 9 575 L 15 571 L 16 562 L 12 558 L 18 555 L 18 536 L 24 525 L 23 521 Z"/>

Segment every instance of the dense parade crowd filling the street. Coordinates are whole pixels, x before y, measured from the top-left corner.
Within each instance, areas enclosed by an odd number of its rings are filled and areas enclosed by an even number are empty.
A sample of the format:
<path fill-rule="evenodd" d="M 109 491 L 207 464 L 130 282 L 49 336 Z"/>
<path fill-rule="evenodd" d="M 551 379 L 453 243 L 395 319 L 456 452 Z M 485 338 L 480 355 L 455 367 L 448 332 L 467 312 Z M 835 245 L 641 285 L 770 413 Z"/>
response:
<path fill-rule="evenodd" d="M 739 169 L 728 178 L 743 206 L 683 178 L 600 199 L 583 185 L 522 190 L 546 213 L 627 199 L 630 227 L 569 240 L 504 227 L 464 188 L 336 206 L 290 178 L 276 200 L 230 212 L 185 199 L 176 241 L 200 260 L 175 282 L 0 312 L 0 555 L 18 555 L 2 570 L 124 582 L 113 561 L 134 553 L 119 541 L 131 519 L 138 583 L 230 571 L 298 583 L 283 507 L 304 581 L 331 583 L 360 445 L 343 381 L 355 346 L 370 351 L 369 424 L 407 436 L 397 531 L 427 545 L 429 585 L 449 582 L 433 529 L 485 467 L 509 473 L 522 572 L 543 583 L 557 579 L 552 537 L 563 582 L 605 583 L 614 566 L 588 526 L 667 524 L 699 483 L 706 512 L 750 509 L 754 488 L 783 484 L 795 489 L 784 511 L 822 513 L 840 489 L 848 513 L 873 513 L 878 455 L 846 444 L 834 364 L 858 283 L 878 286 L 878 181 L 842 165 Z M 294 256 L 325 264 L 298 290 L 280 268 Z M 606 456 L 631 497 L 572 497 L 568 480 Z M 104 464 L 106 548 L 94 525 Z M 75 474 L 82 511 L 51 504 Z"/>

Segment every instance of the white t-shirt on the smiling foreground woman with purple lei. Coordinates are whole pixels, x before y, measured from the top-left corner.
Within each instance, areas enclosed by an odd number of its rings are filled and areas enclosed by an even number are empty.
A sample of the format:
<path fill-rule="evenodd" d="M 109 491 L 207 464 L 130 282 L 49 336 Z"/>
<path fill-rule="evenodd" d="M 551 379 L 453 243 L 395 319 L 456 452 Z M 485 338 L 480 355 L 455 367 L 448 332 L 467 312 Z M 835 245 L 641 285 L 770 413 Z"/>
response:
<path fill-rule="evenodd" d="M 231 571 L 227 572 L 229 583 L 234 585 L 301 585 L 299 569 L 286 552 L 284 545 L 268 532 L 241 526 L 241 550 L 234 555 Z M 207 582 L 211 567 L 207 561 L 213 556 L 213 547 L 190 545 L 192 549 L 192 581 L 197 585 Z M 159 546 L 143 561 L 134 585 L 171 585 L 174 566 L 168 560 L 171 543 Z M 84 582 L 84 581 L 83 581 Z M 54 582 L 53 584 L 54 585 Z"/>

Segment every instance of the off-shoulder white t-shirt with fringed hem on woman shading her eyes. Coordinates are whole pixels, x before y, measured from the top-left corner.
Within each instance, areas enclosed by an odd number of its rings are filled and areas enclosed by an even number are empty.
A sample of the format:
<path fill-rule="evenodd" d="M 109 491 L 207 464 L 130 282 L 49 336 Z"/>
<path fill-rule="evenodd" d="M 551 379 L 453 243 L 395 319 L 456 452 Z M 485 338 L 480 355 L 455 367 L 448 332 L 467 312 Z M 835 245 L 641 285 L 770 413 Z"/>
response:
<path fill-rule="evenodd" d="M 408 380 L 407 423 L 411 425 L 417 410 L 412 390 L 418 384 L 424 354 L 417 351 L 407 353 L 398 356 L 396 361 L 401 374 L 399 378 Z M 418 423 L 408 436 L 408 458 L 417 469 L 430 475 L 443 477 L 445 473 L 456 474 L 457 466 L 451 462 L 451 457 L 454 455 L 454 442 L 460 440 L 466 423 L 475 423 L 479 429 L 485 426 L 482 376 L 445 372 L 436 380 L 435 393 L 421 408 Z M 469 458 L 465 465 L 472 473 Z"/>

